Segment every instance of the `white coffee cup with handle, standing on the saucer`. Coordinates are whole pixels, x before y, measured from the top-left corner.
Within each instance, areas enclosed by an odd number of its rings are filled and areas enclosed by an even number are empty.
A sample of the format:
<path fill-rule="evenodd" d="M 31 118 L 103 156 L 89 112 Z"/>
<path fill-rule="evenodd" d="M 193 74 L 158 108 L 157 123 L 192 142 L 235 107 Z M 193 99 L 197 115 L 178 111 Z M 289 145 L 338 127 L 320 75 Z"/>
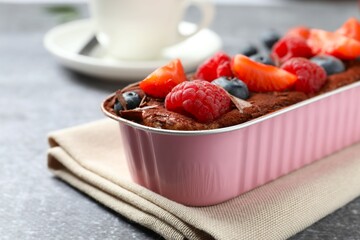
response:
<path fill-rule="evenodd" d="M 117 59 L 149 60 L 209 26 L 214 15 L 211 0 L 90 0 L 97 40 Z M 189 6 L 202 18 L 195 31 L 183 34 L 179 24 Z"/>

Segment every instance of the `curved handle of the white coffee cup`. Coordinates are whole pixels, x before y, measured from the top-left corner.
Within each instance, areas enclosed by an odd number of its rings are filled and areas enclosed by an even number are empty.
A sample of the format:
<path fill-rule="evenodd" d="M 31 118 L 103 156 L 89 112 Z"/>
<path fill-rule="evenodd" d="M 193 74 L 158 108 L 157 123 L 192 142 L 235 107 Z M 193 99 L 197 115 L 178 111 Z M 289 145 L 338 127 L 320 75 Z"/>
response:
<path fill-rule="evenodd" d="M 197 24 L 196 28 L 191 32 L 181 31 L 181 26 L 179 26 L 179 38 L 177 42 L 184 41 L 185 39 L 194 36 L 202 29 L 208 27 L 211 24 L 215 14 L 215 7 L 211 0 L 189 0 L 186 4 L 187 6 L 193 5 L 197 7 L 201 12 L 202 19 Z"/>

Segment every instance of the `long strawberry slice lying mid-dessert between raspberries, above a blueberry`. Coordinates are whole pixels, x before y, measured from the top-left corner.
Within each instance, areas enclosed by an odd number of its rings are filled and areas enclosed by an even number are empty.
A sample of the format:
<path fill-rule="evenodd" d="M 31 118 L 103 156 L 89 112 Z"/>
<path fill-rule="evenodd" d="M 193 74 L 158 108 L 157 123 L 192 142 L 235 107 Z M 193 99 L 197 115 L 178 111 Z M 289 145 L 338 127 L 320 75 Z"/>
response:
<path fill-rule="evenodd" d="M 231 67 L 235 76 L 253 92 L 283 91 L 292 87 L 297 79 L 292 73 L 255 62 L 241 54 L 234 56 Z"/>

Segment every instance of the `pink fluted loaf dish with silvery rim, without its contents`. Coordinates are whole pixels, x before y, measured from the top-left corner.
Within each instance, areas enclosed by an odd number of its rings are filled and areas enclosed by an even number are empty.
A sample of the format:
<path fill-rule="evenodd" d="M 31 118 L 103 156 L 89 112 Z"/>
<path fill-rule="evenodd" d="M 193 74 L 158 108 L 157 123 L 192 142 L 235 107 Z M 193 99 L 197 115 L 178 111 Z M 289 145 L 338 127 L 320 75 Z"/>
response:
<path fill-rule="evenodd" d="M 360 140 L 360 82 L 252 121 L 170 131 L 114 116 L 138 184 L 178 203 L 224 202 Z"/>

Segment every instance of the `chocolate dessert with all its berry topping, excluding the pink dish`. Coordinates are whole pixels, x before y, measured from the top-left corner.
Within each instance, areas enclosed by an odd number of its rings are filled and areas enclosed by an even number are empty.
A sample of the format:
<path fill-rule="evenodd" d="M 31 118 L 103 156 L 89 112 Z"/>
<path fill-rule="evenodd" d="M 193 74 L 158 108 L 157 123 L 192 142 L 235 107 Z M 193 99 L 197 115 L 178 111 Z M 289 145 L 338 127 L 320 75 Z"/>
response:
<path fill-rule="evenodd" d="M 218 52 L 187 76 L 175 59 L 118 90 L 105 109 L 136 123 L 170 130 L 233 126 L 360 80 L 360 23 L 338 30 L 295 27 L 268 34 L 269 56 L 254 46 Z"/>

